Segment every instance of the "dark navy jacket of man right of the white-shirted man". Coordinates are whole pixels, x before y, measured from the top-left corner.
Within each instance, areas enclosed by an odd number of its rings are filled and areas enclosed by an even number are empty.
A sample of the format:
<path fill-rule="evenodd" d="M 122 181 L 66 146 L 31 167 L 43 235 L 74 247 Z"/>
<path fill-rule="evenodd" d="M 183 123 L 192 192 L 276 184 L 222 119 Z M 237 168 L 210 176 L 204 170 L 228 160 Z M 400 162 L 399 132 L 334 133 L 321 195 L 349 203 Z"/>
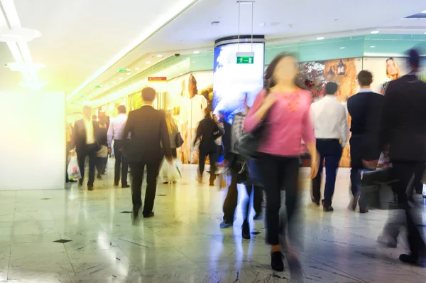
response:
<path fill-rule="evenodd" d="M 348 112 L 351 115 L 351 139 L 358 139 L 351 142 L 351 146 L 359 145 L 360 147 L 351 149 L 351 152 L 359 153 L 359 156 L 351 156 L 351 159 L 359 166 L 362 164 L 362 159 L 376 160 L 381 154 L 378 129 L 383 102 L 383 95 L 376 92 L 359 92 L 349 97 L 347 102 Z"/>

